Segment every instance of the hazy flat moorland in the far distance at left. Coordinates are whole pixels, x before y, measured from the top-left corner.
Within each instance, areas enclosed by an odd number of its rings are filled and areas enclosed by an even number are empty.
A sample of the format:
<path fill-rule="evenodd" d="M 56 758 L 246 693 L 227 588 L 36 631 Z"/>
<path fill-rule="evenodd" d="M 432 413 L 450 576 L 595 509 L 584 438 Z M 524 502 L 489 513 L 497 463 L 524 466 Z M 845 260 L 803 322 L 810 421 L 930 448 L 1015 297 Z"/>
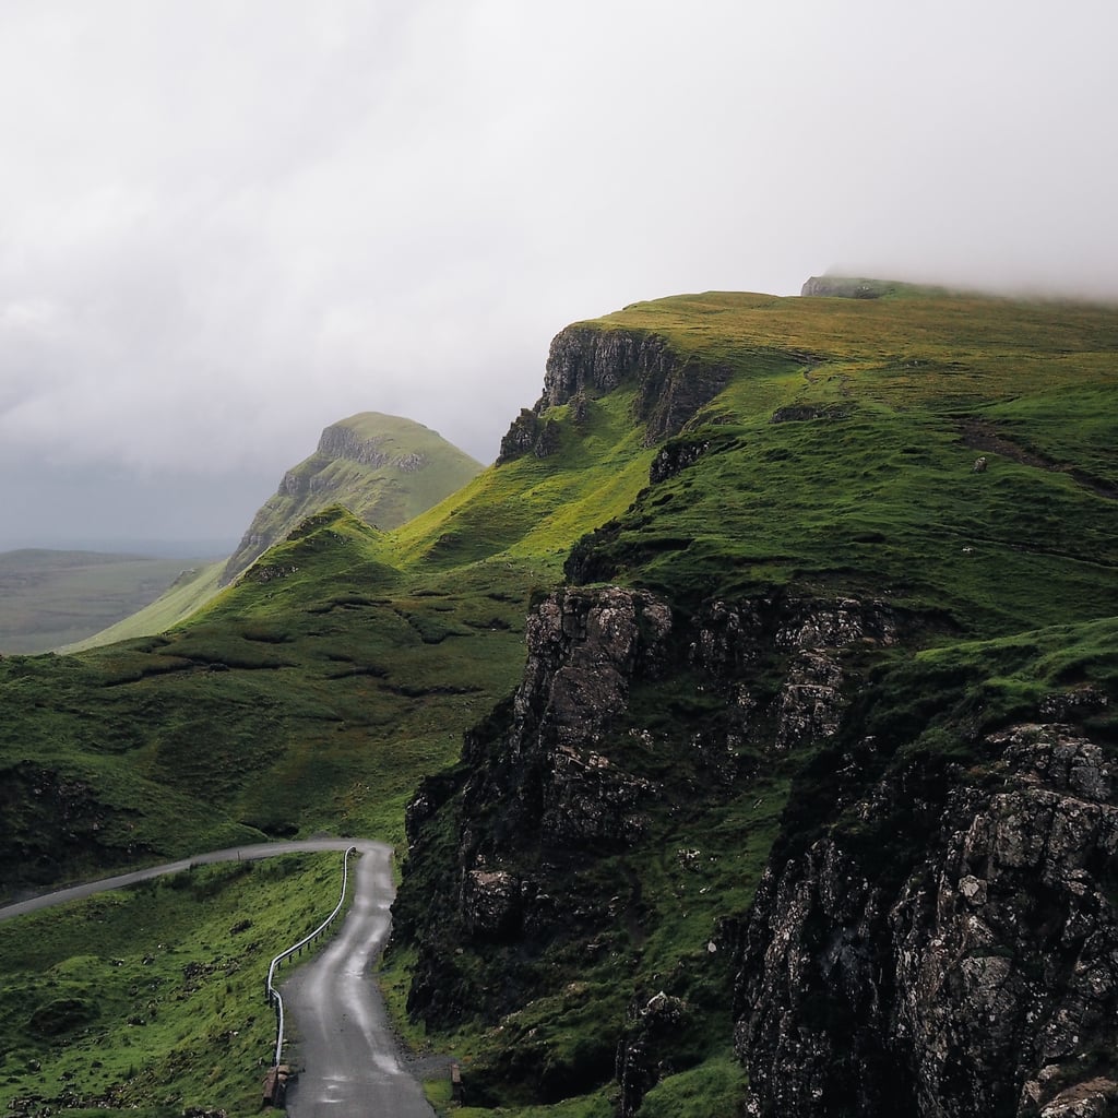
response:
<path fill-rule="evenodd" d="M 79 642 L 154 601 L 191 560 L 28 548 L 0 555 L 0 654 Z"/>

